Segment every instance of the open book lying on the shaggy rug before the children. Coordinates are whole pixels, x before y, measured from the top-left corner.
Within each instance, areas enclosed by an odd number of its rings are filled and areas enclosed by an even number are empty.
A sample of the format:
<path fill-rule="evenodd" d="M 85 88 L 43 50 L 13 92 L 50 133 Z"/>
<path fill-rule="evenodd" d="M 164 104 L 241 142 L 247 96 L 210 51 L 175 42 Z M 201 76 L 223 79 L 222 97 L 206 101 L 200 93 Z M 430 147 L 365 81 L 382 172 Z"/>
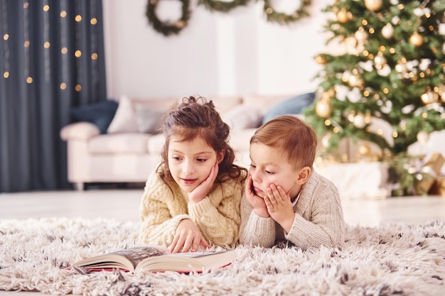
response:
<path fill-rule="evenodd" d="M 139 270 L 153 272 L 177 271 L 180 273 L 203 272 L 230 265 L 236 258 L 233 250 L 170 253 L 162 246 L 136 246 L 86 258 L 71 266 L 77 272 L 120 269 L 132 273 Z"/>

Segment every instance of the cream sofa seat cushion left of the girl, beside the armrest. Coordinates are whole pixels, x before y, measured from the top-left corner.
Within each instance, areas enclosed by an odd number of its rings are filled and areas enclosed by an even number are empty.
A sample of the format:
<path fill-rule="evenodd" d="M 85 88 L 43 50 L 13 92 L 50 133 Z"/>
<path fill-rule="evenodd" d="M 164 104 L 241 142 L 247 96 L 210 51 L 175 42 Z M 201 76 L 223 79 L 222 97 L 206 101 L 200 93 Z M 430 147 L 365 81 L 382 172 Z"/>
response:
<path fill-rule="evenodd" d="M 148 153 L 149 133 L 109 133 L 91 138 L 90 153 Z"/>

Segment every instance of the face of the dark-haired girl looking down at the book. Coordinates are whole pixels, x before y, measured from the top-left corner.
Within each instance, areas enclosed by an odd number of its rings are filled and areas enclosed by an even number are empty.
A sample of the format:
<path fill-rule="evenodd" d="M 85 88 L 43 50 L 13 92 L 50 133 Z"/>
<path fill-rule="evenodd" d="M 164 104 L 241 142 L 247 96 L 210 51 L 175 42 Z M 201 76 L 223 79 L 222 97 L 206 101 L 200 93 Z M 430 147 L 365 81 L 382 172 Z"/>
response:
<path fill-rule="evenodd" d="M 172 136 L 168 146 L 168 167 L 173 180 L 186 192 L 191 192 L 210 175 L 215 163 L 223 159 L 203 138 L 179 141 Z"/>

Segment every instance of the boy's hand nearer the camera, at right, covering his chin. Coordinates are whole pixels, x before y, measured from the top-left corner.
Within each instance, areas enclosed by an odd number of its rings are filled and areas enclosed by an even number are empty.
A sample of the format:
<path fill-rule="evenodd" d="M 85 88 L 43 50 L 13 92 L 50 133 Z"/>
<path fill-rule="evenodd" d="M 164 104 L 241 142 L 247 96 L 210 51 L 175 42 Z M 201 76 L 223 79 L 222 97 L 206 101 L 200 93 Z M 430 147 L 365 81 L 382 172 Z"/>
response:
<path fill-rule="evenodd" d="M 289 193 L 286 193 L 281 186 L 277 187 L 272 184 L 267 188 L 267 197 L 264 197 L 264 203 L 272 219 L 289 233 L 295 218 Z"/>

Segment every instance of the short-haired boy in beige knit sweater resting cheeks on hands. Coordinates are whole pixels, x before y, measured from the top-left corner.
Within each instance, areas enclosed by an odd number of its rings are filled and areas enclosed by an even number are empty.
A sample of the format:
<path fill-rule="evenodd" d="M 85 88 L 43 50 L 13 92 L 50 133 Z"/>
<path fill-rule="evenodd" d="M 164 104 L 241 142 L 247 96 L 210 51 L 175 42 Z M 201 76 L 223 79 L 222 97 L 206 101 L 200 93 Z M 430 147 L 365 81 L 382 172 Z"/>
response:
<path fill-rule="evenodd" d="M 295 116 L 260 126 L 250 140 L 252 164 L 241 201 L 240 243 L 302 249 L 341 248 L 345 222 L 335 185 L 313 170 L 317 139 Z"/>

